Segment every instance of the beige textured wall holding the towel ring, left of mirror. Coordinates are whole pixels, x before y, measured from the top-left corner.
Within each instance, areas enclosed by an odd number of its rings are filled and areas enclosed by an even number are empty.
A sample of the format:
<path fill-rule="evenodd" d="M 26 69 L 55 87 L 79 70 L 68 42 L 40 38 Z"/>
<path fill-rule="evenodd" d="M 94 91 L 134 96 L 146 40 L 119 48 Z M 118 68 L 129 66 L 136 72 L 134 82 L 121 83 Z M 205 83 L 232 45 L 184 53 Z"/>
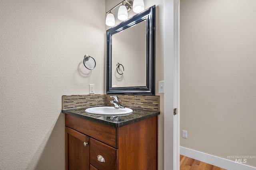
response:
<path fill-rule="evenodd" d="M 105 93 L 105 1 L 3 0 L 0 22 L 0 169 L 63 170 L 61 96 Z"/>

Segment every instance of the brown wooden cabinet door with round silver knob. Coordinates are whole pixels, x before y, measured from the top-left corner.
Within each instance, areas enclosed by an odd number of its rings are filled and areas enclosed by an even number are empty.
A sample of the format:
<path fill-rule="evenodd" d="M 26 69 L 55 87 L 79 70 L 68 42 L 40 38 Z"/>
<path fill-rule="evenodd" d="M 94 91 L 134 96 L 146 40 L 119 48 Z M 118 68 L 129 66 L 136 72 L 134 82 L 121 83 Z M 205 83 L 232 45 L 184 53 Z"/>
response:
<path fill-rule="evenodd" d="M 89 139 L 66 127 L 66 170 L 89 170 Z"/>

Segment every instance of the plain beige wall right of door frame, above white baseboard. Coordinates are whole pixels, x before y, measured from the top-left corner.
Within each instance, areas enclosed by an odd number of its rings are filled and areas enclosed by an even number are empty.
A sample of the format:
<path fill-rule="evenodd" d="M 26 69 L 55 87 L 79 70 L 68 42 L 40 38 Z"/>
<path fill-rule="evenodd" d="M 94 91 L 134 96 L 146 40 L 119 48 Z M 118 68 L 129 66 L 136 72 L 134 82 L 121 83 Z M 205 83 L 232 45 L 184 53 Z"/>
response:
<path fill-rule="evenodd" d="M 180 146 L 255 156 L 255 102 L 256 1 L 181 0 Z"/>

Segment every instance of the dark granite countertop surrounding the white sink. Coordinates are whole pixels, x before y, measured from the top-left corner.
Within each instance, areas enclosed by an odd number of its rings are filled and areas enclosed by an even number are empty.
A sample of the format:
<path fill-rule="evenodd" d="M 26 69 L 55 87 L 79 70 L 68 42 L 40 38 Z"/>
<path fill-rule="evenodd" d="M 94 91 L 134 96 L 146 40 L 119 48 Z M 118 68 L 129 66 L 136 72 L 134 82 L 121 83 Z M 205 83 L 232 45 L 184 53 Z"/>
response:
<path fill-rule="evenodd" d="M 152 111 L 152 110 L 142 110 L 142 109 L 134 109 L 132 114 L 126 116 L 95 116 L 89 115 L 85 112 L 85 109 L 89 107 L 75 108 L 75 109 L 62 109 L 63 113 L 74 115 L 76 117 L 81 117 L 83 119 L 87 119 L 90 121 L 94 121 L 97 123 L 102 123 L 104 125 L 112 126 L 112 127 L 121 127 L 124 125 L 128 125 L 137 121 L 141 121 L 144 119 L 148 119 L 150 117 L 154 117 L 160 114 L 160 111 Z"/>

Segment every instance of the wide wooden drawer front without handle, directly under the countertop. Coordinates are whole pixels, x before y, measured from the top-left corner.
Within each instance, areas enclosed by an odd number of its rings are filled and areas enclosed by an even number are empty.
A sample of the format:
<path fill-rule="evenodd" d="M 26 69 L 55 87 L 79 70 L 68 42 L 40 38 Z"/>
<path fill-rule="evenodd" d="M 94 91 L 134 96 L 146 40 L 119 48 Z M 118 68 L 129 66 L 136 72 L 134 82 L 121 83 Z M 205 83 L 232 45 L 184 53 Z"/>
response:
<path fill-rule="evenodd" d="M 118 148 L 116 142 L 116 128 L 89 121 L 80 117 L 65 114 L 66 126 Z"/>

